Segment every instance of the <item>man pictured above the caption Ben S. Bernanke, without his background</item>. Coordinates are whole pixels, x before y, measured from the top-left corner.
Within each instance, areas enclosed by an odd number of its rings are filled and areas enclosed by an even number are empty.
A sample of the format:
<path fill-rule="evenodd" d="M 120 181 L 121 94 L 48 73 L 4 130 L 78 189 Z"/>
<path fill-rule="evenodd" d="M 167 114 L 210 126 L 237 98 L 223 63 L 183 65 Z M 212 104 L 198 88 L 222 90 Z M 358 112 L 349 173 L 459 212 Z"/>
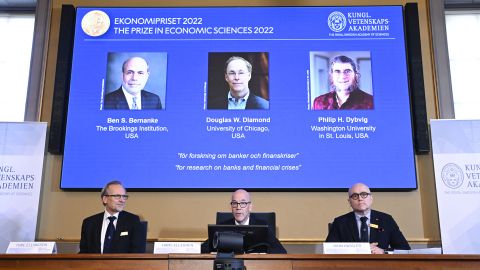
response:
<path fill-rule="evenodd" d="M 161 110 L 160 98 L 144 89 L 150 75 L 148 63 L 141 57 L 127 59 L 122 65 L 122 86 L 105 95 L 105 110 Z"/>

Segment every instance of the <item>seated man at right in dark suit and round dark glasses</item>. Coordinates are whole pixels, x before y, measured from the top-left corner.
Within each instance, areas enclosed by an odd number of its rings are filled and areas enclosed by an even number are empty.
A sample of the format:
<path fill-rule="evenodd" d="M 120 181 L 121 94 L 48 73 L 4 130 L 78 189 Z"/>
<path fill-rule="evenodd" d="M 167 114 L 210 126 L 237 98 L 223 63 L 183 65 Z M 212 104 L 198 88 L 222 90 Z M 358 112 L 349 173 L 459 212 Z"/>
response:
<path fill-rule="evenodd" d="M 410 245 L 392 216 L 371 210 L 373 197 L 362 183 L 348 190 L 353 211 L 334 219 L 326 242 L 370 242 L 372 254 L 383 254 L 388 248 L 410 249 Z"/>

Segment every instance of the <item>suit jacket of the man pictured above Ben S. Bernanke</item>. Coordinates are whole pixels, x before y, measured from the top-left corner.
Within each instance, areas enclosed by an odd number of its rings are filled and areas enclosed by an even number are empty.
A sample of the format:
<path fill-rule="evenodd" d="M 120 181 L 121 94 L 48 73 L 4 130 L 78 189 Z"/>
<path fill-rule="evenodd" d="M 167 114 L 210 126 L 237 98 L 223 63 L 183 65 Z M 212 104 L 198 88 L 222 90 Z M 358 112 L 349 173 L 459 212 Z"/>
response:
<path fill-rule="evenodd" d="M 140 91 L 142 95 L 142 110 L 161 110 L 162 103 L 160 98 L 154 93 L 146 90 Z M 127 98 L 123 94 L 122 87 L 108 93 L 103 102 L 103 109 L 105 110 L 129 110 Z"/>

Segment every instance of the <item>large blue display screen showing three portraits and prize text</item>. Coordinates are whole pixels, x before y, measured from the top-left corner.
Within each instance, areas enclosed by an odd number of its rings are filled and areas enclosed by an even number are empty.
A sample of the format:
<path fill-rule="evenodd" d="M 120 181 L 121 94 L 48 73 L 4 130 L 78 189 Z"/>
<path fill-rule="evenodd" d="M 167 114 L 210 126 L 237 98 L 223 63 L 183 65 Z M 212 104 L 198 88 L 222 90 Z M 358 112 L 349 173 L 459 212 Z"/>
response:
<path fill-rule="evenodd" d="M 77 8 L 61 188 L 415 189 L 402 6 Z"/>

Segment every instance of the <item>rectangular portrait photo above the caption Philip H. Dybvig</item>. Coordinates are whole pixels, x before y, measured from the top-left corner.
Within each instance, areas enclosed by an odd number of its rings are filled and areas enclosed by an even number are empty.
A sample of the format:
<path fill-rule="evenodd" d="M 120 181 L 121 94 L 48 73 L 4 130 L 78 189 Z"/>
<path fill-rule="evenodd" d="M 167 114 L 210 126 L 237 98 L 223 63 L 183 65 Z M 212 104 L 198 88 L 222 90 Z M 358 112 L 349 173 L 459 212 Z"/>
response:
<path fill-rule="evenodd" d="M 312 110 L 372 110 L 370 52 L 310 52 L 310 89 Z"/>

